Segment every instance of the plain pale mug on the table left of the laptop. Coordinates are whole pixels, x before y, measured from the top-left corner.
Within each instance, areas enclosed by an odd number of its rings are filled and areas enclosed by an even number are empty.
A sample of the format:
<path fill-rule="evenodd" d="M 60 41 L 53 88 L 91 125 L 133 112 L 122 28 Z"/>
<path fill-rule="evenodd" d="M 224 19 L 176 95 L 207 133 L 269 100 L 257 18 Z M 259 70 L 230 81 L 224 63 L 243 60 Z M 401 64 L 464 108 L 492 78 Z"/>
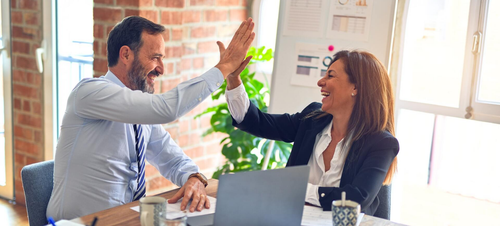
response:
<path fill-rule="evenodd" d="M 144 197 L 139 200 L 141 226 L 161 226 L 167 208 L 166 199 L 162 197 Z"/>

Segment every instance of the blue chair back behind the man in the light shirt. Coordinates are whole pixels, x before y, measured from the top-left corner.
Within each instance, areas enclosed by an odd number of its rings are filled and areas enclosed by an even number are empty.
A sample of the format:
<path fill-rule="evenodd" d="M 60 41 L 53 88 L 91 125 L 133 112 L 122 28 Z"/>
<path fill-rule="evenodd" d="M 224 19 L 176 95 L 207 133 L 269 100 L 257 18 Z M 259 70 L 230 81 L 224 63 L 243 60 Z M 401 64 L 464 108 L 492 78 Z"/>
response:
<path fill-rule="evenodd" d="M 24 166 L 21 177 L 30 225 L 48 224 L 46 212 L 54 186 L 54 160 Z"/>

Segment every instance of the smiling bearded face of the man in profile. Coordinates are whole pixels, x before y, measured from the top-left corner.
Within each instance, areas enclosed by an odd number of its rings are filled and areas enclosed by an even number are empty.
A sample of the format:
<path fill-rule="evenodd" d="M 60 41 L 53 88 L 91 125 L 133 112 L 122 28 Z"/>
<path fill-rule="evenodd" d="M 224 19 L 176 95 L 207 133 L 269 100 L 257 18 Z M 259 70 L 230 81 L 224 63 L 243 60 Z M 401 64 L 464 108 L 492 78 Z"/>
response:
<path fill-rule="evenodd" d="M 164 72 L 165 42 L 161 34 L 142 33 L 142 47 L 135 53 L 128 71 L 129 88 L 154 93 L 155 79 Z"/>

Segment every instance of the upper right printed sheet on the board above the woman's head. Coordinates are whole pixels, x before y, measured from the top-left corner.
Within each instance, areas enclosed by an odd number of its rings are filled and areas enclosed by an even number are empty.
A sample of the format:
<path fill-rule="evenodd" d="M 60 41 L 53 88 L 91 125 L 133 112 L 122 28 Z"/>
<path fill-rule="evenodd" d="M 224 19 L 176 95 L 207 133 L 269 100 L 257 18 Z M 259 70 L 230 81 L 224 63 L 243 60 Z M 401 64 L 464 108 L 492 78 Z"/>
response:
<path fill-rule="evenodd" d="M 326 37 L 368 41 L 373 4 L 373 0 L 331 1 Z"/>

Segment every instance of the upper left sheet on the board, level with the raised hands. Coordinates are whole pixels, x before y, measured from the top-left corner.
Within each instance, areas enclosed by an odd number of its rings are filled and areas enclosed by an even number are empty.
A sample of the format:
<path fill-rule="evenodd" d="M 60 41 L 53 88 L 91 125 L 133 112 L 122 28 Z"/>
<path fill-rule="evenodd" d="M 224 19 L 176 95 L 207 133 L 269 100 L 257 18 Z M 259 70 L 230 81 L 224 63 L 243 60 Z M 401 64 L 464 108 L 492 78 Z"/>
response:
<path fill-rule="evenodd" d="M 324 36 L 325 0 L 288 0 L 283 35 L 318 37 Z"/>

